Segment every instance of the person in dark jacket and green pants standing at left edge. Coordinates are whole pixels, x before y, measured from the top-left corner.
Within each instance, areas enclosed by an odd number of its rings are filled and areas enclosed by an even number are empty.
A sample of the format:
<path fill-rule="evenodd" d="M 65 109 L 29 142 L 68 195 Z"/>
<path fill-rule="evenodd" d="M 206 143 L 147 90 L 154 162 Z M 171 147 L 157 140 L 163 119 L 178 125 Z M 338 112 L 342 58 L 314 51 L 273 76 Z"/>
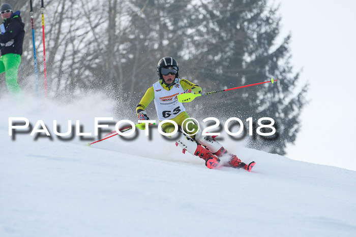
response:
<path fill-rule="evenodd" d="M 9 92 L 16 96 L 21 94 L 17 83 L 17 71 L 21 63 L 22 43 L 25 35 L 24 23 L 20 11 L 13 12 L 10 4 L 0 6 L 1 17 L 4 19 L 0 33 L 0 74 L 5 72 L 6 86 Z M 3 31 L 4 30 L 4 31 Z"/>

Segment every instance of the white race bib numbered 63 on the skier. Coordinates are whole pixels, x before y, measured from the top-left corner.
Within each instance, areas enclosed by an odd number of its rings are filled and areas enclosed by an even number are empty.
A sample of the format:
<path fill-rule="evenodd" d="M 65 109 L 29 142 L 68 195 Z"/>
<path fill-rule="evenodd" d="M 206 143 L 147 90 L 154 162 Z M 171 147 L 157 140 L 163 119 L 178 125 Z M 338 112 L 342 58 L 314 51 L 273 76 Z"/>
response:
<path fill-rule="evenodd" d="M 180 82 L 181 79 L 177 78 L 175 80 L 178 80 L 178 82 L 170 90 L 165 90 L 159 81 L 153 84 L 155 107 L 157 116 L 161 121 L 175 118 L 181 112 L 186 111 L 186 108 L 177 98 L 177 95 L 184 92 Z"/>

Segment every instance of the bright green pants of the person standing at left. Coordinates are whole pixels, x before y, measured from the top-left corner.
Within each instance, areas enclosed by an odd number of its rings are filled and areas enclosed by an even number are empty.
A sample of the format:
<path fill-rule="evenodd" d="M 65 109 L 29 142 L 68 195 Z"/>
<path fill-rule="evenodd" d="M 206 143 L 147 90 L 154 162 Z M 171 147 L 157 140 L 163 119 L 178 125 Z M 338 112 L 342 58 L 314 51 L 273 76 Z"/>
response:
<path fill-rule="evenodd" d="M 5 72 L 6 86 L 9 92 L 16 96 L 21 94 L 17 83 L 17 71 L 21 63 L 21 55 L 8 53 L 0 57 L 0 74 Z"/>

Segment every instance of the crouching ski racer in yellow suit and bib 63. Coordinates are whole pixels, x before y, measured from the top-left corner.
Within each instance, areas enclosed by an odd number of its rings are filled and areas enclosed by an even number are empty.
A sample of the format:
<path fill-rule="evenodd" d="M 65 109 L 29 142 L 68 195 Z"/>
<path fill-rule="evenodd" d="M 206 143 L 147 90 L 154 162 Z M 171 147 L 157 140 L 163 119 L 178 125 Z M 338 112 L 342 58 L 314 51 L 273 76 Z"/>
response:
<path fill-rule="evenodd" d="M 145 109 L 152 100 L 154 100 L 160 121 L 172 120 L 179 125 L 182 131 L 182 127 L 184 127 L 182 123 L 187 119 L 188 123 L 184 122 L 184 124 L 188 124 L 187 130 L 184 130 L 187 135 L 183 136 L 183 139 L 177 140 L 176 146 L 179 145 L 184 149 L 184 152 L 187 150 L 192 155 L 204 159 L 208 168 L 216 167 L 220 161 L 219 157 L 226 154 L 227 150 L 212 136 L 202 136 L 201 131 L 197 131 L 198 126 L 194 120 L 190 119 L 183 104 L 177 99 L 177 95 L 182 93 L 199 94 L 202 90 L 201 87 L 179 77 L 179 65 L 172 57 L 164 57 L 159 60 L 157 74 L 158 82 L 147 89 L 136 107 L 138 120 L 149 120 Z M 144 128 L 142 127 L 142 129 Z M 164 123 L 162 129 L 166 133 L 171 133 L 174 131 L 174 125 L 169 122 Z M 194 135 L 194 133 L 196 134 Z M 229 161 L 223 165 L 251 170 L 253 164 L 246 165 L 236 155 L 229 155 Z"/>

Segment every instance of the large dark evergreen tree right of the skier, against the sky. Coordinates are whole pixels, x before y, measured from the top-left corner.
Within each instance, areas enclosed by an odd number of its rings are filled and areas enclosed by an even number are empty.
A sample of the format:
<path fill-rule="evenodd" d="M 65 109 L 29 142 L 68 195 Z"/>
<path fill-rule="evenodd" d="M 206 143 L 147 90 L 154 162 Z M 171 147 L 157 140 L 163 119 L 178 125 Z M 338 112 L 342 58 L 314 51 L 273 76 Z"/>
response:
<path fill-rule="evenodd" d="M 192 65 L 199 69 L 197 75 L 204 82 L 210 82 L 210 91 L 278 79 L 274 85 L 205 97 L 203 103 L 211 108 L 200 106 L 201 110 L 205 114 L 220 111 L 226 117 L 242 120 L 253 117 L 255 122 L 262 117 L 273 118 L 278 134 L 260 137 L 250 146 L 285 154 L 286 144 L 293 143 L 298 133 L 307 85 L 296 91 L 299 73 L 293 75 L 289 63 L 290 36 L 276 45 L 281 21 L 278 8 L 269 7 L 266 0 L 204 1 L 196 8 L 203 17 L 202 27 L 196 30 L 201 40 L 194 45 Z"/>

